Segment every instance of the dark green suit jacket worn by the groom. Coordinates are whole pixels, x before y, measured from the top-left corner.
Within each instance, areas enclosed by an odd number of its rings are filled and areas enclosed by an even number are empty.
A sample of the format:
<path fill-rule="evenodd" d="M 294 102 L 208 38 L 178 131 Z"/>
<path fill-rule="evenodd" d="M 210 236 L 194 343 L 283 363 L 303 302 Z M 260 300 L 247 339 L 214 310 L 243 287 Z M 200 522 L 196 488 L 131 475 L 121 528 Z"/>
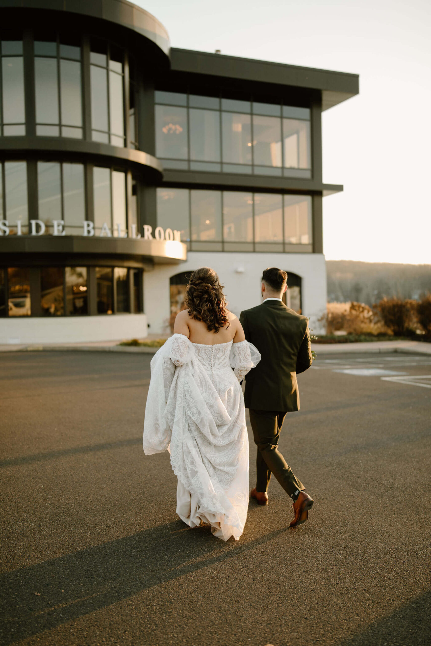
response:
<path fill-rule="evenodd" d="M 241 312 L 240 322 L 247 341 L 262 355 L 246 375 L 246 408 L 299 410 L 297 374 L 313 362 L 308 318 L 279 300 L 264 300 Z"/>

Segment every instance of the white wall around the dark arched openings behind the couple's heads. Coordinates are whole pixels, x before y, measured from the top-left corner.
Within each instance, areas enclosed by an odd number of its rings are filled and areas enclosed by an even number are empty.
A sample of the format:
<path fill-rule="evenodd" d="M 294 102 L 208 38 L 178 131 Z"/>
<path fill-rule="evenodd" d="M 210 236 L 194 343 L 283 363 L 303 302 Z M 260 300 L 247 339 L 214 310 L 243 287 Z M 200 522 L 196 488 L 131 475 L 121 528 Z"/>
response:
<path fill-rule="evenodd" d="M 310 318 L 310 328 L 321 332 L 318 319 L 326 311 L 326 265 L 323 254 L 229 253 L 189 251 L 180 265 L 156 265 L 144 272 L 144 311 L 150 324 L 149 333 L 168 331 L 170 313 L 169 278 L 182 271 L 212 267 L 225 286 L 229 309 L 239 315 L 242 309 L 262 302 L 260 278 L 266 267 L 280 267 L 302 278 L 302 311 Z M 237 270 L 243 269 L 241 273 Z"/>

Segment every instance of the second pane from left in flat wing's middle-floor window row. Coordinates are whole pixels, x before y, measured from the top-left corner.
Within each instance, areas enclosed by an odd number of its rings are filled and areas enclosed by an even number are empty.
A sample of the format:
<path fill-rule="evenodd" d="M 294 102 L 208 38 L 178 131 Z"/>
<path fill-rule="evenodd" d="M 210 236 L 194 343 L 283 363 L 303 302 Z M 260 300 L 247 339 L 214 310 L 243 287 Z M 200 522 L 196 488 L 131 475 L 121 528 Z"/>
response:
<path fill-rule="evenodd" d="M 191 191 L 191 239 L 222 240 L 222 194 L 220 191 Z"/>

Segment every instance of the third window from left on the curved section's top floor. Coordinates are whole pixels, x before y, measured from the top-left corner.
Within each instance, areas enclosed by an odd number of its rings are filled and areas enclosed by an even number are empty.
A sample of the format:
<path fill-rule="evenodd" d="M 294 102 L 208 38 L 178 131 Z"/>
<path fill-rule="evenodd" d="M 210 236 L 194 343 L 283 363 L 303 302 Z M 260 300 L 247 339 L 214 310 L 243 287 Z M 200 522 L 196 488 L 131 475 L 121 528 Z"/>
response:
<path fill-rule="evenodd" d="M 90 83 L 92 139 L 123 147 L 123 52 L 120 49 L 96 39 L 91 41 Z"/>

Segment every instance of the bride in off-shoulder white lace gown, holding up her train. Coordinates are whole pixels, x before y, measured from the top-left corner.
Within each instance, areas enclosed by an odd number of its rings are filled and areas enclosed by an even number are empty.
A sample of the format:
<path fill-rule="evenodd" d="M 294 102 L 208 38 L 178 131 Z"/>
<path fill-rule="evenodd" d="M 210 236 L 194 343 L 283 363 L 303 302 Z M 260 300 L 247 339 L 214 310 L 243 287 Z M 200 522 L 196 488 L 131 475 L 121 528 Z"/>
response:
<path fill-rule="evenodd" d="M 173 337 L 151 361 L 143 450 L 171 453 L 176 513 L 239 539 L 247 518 L 248 436 L 240 381 L 260 354 L 229 312 L 213 269 L 191 275 Z M 233 368 L 233 370 L 232 370 Z"/>

